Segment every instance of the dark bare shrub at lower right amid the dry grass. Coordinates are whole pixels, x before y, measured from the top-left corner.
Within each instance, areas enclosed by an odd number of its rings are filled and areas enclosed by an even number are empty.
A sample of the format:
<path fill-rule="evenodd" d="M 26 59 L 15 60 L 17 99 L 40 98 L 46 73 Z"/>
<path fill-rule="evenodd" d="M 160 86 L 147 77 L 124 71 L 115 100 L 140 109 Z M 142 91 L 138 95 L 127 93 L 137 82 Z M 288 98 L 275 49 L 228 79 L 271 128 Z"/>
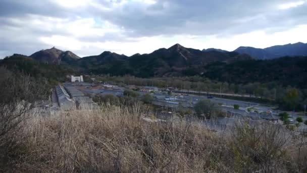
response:
<path fill-rule="evenodd" d="M 291 134 L 270 122 L 239 123 L 231 138 L 234 168 L 238 172 L 288 172 L 287 146 Z"/>

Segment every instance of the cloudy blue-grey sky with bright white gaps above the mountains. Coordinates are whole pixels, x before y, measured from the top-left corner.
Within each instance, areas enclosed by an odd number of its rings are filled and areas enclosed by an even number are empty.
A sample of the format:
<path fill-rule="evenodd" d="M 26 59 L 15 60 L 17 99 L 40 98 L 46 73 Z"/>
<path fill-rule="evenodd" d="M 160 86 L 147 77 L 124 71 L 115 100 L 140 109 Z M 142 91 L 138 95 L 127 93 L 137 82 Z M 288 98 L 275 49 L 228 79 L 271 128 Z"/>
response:
<path fill-rule="evenodd" d="M 0 0 L 0 58 L 307 42 L 307 0 Z"/>

